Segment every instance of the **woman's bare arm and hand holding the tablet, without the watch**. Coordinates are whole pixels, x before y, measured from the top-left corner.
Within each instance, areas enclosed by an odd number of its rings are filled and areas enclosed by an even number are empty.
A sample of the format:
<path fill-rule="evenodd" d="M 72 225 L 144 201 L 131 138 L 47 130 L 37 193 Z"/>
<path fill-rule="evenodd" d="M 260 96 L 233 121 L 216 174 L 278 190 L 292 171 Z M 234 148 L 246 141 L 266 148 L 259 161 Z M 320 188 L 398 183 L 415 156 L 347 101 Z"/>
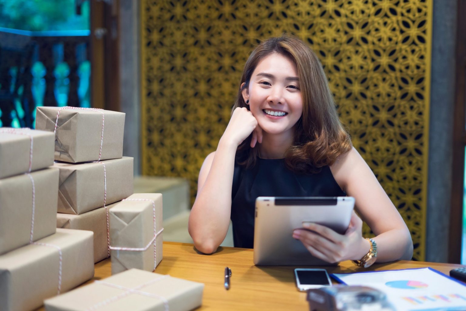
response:
<path fill-rule="evenodd" d="M 410 260 L 412 241 L 403 218 L 356 149 L 344 154 L 330 170 L 338 185 L 356 200 L 356 210 L 375 233 L 377 262 Z M 310 230 L 295 229 L 293 237 L 309 252 L 330 263 L 361 260 L 370 250 L 362 236 L 363 221 L 353 212 L 344 235 L 316 223 L 303 223 Z"/>

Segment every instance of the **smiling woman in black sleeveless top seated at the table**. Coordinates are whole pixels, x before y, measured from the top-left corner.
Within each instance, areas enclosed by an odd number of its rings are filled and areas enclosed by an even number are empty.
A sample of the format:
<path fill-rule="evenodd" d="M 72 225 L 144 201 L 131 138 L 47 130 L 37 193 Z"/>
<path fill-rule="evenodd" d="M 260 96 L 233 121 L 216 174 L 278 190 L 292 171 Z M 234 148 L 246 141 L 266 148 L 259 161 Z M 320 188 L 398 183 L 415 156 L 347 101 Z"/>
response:
<path fill-rule="evenodd" d="M 215 252 L 231 218 L 235 247 L 252 248 L 258 196 L 342 195 L 356 199 L 373 241 L 363 238 L 363 222 L 354 212 L 344 235 L 308 223 L 293 237 L 329 263 L 367 265 L 374 251 L 377 262 L 411 259 L 410 232 L 352 147 L 315 53 L 293 36 L 263 41 L 246 62 L 217 150 L 201 167 L 188 226 L 194 245 Z"/>

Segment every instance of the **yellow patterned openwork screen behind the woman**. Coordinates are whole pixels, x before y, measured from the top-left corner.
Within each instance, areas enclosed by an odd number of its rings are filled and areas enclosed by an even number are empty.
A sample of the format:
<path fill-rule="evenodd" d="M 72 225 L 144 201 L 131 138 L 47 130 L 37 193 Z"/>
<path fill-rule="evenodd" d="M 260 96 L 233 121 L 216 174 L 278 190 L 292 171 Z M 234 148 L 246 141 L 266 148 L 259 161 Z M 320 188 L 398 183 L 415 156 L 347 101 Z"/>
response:
<path fill-rule="evenodd" d="M 423 260 L 431 25 L 432 0 L 142 1 L 143 174 L 186 177 L 194 198 L 247 56 L 290 32 L 319 56 L 353 144 Z"/>

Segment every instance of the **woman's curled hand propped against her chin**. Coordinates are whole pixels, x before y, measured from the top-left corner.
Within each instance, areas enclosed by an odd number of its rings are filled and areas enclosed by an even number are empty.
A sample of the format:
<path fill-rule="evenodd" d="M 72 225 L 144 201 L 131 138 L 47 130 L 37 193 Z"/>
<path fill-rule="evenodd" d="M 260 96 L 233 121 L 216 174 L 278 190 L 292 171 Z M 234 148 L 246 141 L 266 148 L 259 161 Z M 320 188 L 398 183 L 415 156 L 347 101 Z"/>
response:
<path fill-rule="evenodd" d="M 226 140 L 239 146 L 251 133 L 253 133 L 251 148 L 254 148 L 257 142 L 262 142 L 262 129 L 257 124 L 257 120 L 251 111 L 248 111 L 245 107 L 237 107 L 233 111 L 221 140 Z"/>

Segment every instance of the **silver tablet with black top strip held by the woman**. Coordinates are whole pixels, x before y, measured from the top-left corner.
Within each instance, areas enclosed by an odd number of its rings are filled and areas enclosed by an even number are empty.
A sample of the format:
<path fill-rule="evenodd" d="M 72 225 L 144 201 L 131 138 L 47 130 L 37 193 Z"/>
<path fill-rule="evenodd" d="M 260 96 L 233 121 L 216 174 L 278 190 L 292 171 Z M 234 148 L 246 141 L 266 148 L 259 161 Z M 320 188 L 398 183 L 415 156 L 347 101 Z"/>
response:
<path fill-rule="evenodd" d="M 258 197 L 254 221 L 254 264 L 273 266 L 336 265 L 312 256 L 293 230 L 303 221 L 344 234 L 353 197 Z"/>

